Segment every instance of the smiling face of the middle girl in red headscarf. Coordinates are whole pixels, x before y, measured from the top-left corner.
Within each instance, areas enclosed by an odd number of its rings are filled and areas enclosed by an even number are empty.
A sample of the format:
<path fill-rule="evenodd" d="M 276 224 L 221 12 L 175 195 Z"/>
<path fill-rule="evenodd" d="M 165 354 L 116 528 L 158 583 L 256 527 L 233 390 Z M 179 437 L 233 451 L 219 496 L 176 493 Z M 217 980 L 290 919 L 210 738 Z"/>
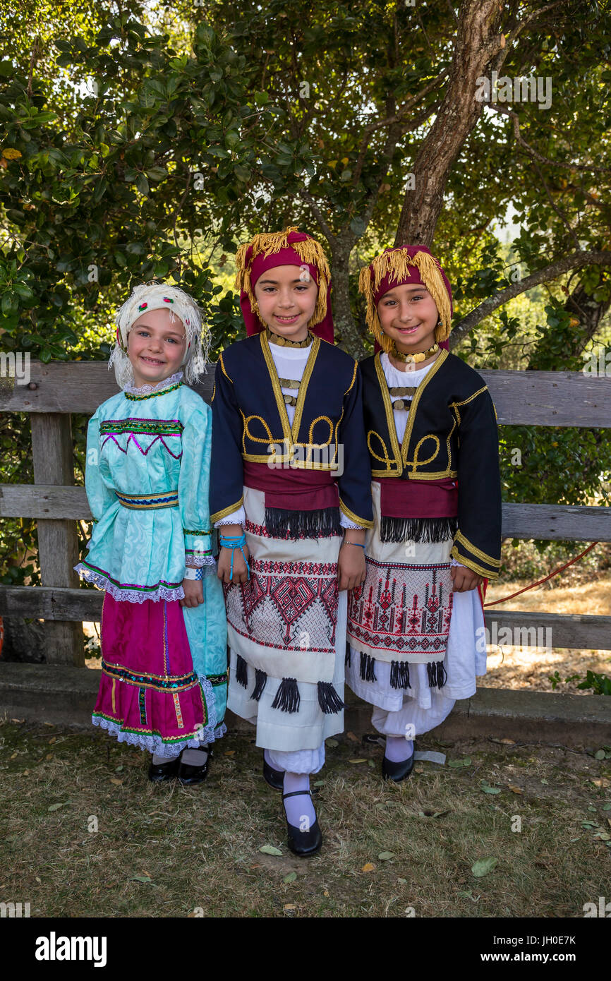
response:
<path fill-rule="evenodd" d="M 304 279 L 307 277 L 307 279 Z M 255 284 L 259 316 L 274 334 L 305 340 L 318 299 L 318 286 L 299 266 L 276 266 Z"/>

